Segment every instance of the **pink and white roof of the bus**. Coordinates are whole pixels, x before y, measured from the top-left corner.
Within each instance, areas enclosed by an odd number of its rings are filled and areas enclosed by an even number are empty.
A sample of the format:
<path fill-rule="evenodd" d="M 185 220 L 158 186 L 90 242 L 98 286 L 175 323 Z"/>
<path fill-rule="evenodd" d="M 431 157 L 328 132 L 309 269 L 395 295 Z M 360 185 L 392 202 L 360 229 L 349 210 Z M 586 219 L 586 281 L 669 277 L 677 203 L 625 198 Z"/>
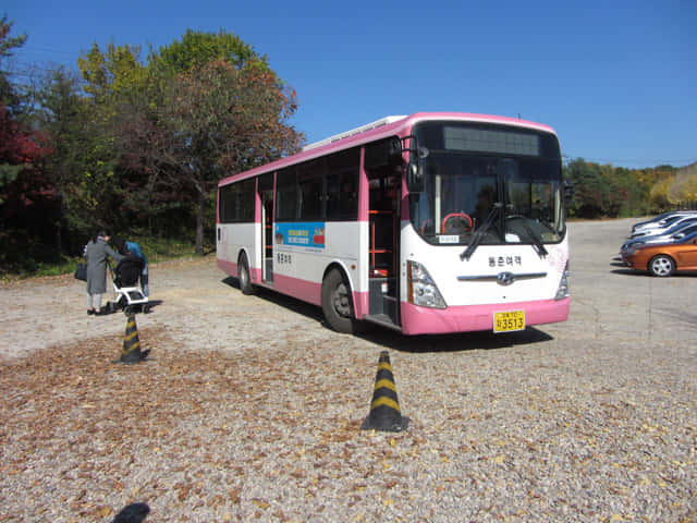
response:
<path fill-rule="evenodd" d="M 404 127 L 428 120 L 439 121 L 460 121 L 460 122 L 477 122 L 477 123 L 498 123 L 504 125 L 513 125 L 525 129 L 534 129 L 557 136 L 557 133 L 549 125 L 527 120 L 521 120 L 510 117 L 498 117 L 492 114 L 476 114 L 467 112 L 416 112 L 411 115 L 392 115 L 384 117 L 375 122 L 360 125 L 358 127 L 345 131 L 343 133 L 330 136 L 320 142 L 307 145 L 301 153 L 285 158 L 266 163 L 265 166 L 250 169 L 248 171 L 232 174 L 221 180 L 218 185 L 227 185 L 232 182 L 241 181 L 247 178 L 256 177 L 265 172 L 273 172 L 284 167 L 301 163 L 303 161 L 319 158 L 325 155 L 337 153 L 343 149 L 387 138 L 389 136 L 399 135 Z"/>

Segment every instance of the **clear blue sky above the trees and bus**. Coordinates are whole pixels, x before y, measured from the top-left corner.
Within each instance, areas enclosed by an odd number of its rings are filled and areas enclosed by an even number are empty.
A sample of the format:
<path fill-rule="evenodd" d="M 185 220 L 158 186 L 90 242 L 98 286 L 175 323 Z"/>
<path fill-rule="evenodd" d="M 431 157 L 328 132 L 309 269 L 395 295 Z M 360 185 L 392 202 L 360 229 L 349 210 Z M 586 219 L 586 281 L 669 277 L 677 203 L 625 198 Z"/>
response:
<path fill-rule="evenodd" d="M 147 50 L 187 28 L 234 33 L 296 89 L 308 142 L 443 110 L 546 123 L 570 158 L 697 161 L 694 0 L 9 0 L 0 13 L 29 37 L 17 71 L 74 68 L 95 41 Z"/>

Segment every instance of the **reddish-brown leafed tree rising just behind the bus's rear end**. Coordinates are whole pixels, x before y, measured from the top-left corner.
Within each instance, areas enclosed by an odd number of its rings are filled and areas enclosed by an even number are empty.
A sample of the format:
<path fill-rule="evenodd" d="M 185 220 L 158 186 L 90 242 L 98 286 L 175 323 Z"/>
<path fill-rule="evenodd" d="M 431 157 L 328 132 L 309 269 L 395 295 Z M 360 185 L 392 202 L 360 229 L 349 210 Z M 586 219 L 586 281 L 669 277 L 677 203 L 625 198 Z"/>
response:
<path fill-rule="evenodd" d="M 295 111 L 267 68 L 249 61 L 235 69 L 224 60 L 181 75 L 178 96 L 163 121 L 178 130 L 179 172 L 196 191 L 196 251 L 203 253 L 205 206 L 218 181 L 295 153 L 302 136 L 285 122 Z M 168 111 L 171 110 L 171 112 Z"/>

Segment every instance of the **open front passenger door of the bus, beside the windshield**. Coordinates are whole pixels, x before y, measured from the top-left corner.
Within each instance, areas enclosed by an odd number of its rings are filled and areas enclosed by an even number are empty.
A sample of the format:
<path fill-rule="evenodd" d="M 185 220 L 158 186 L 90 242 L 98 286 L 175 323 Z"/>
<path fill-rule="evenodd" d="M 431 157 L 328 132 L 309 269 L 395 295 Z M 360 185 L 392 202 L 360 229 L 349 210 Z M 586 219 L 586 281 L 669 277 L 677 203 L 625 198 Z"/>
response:
<path fill-rule="evenodd" d="M 370 169 L 369 217 L 369 316 L 371 320 L 400 325 L 399 296 L 399 168 Z"/>

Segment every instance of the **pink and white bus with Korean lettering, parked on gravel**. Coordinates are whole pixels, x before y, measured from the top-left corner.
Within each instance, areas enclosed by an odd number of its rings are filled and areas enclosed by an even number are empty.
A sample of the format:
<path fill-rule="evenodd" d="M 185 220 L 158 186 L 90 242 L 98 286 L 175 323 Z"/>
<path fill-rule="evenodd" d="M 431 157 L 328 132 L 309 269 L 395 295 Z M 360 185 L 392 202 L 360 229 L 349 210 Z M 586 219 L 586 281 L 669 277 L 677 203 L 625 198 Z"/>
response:
<path fill-rule="evenodd" d="M 221 180 L 217 263 L 340 332 L 524 330 L 568 317 L 564 195 L 547 125 L 386 117 Z"/>

